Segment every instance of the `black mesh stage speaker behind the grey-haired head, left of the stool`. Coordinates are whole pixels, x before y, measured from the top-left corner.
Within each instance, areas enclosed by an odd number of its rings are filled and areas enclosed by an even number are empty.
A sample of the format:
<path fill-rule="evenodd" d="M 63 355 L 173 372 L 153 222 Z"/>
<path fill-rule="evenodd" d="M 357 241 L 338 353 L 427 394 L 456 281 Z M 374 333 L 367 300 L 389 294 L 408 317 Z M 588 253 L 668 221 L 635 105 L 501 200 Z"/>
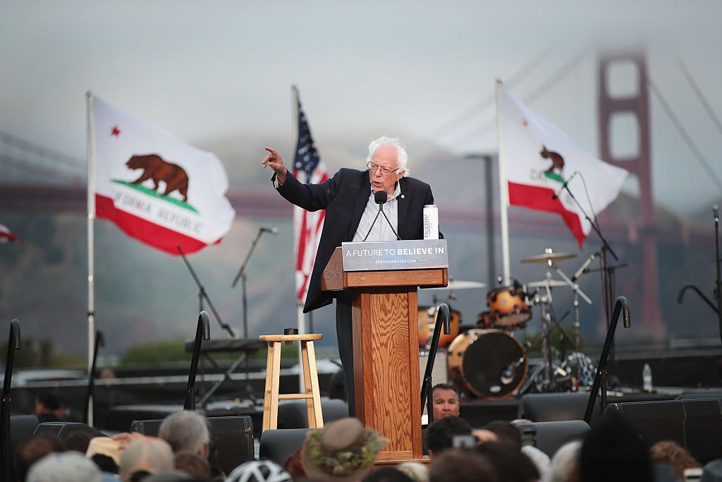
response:
<path fill-rule="evenodd" d="M 211 442 L 218 451 L 218 467 L 224 473 L 248 460 L 253 460 L 253 421 L 250 416 L 206 417 L 210 425 Z M 162 420 L 136 420 L 131 432 L 158 436 Z"/>

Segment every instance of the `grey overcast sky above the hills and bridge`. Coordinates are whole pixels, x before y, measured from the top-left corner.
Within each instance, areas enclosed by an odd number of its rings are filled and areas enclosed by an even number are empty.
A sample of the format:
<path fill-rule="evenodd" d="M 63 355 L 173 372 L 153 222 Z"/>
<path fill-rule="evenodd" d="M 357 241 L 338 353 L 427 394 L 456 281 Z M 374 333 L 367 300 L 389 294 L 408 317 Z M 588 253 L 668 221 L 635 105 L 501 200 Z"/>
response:
<path fill-rule="evenodd" d="M 5 0 L 0 131 L 84 158 L 92 89 L 188 142 L 277 137 L 288 150 L 297 84 L 322 155 L 361 133 L 363 142 L 386 133 L 404 137 L 413 160 L 430 145 L 495 150 L 494 106 L 482 101 L 499 77 L 598 154 L 596 56 L 640 48 L 720 173 L 722 134 L 677 58 L 722 116 L 721 18 L 711 0 Z M 721 199 L 656 98 L 650 106 L 656 200 L 689 213 Z M 247 146 L 248 168 L 262 147 Z"/>

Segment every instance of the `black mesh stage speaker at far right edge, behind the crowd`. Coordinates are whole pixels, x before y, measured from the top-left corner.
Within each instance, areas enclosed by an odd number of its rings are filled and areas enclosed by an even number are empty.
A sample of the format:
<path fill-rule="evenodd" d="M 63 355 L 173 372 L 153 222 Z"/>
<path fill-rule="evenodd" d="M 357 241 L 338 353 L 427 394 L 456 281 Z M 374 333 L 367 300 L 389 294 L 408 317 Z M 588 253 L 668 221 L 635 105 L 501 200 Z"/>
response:
<path fill-rule="evenodd" d="M 722 458 L 722 400 L 611 403 L 648 444 L 671 440 L 705 464 Z M 605 411 L 605 413 L 606 413 Z"/>

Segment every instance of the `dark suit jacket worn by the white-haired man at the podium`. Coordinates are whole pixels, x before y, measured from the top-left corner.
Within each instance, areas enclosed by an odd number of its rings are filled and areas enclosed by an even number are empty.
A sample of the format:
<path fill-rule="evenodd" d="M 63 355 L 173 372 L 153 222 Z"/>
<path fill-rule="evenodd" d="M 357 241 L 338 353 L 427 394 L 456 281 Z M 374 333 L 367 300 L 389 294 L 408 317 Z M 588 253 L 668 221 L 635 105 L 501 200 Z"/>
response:
<path fill-rule="evenodd" d="M 275 174 L 272 179 L 274 178 Z M 431 188 L 425 182 L 410 177 L 399 179 L 399 184 L 401 185 L 401 196 L 397 200 L 399 237 L 422 239 L 424 206 L 434 204 Z M 321 273 L 326 269 L 334 249 L 341 246 L 342 242 L 352 241 L 354 238 L 371 194 L 369 173 L 344 168 L 321 184 L 301 184 L 289 171 L 286 182 L 278 191 L 284 198 L 305 210 L 326 210 L 316 262 L 313 264 L 308 294 L 303 306 L 303 312 L 308 313 L 331 304 L 334 295 L 329 291 L 321 291 Z"/>

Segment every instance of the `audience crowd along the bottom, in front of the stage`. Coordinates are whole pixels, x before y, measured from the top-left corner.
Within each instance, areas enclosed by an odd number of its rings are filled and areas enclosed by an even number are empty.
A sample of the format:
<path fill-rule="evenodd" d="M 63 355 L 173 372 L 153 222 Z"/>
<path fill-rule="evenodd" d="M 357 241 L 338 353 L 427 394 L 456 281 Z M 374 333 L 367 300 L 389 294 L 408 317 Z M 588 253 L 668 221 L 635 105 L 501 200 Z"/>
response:
<path fill-rule="evenodd" d="M 435 387 L 436 388 L 436 387 Z M 630 423 L 609 413 L 583 439 L 569 440 L 547 454 L 523 439 L 513 422 L 496 421 L 474 429 L 458 415 L 443 386 L 434 397 L 435 421 L 425 430 L 427 463 L 374 466 L 388 444 L 383 434 L 355 418 L 310 430 L 302 446 L 281 465 L 251 460 L 223 473 L 217 466 L 206 418 L 182 411 L 165 418 L 157 437 L 74 434 L 63 439 L 38 434 L 14 451 L 18 482 L 703 482 L 722 480 L 722 460 L 705 465 L 674 442 L 647 447 Z M 436 395 L 437 390 L 434 390 Z M 438 400 L 438 403 L 436 403 Z M 43 407 L 56 414 L 58 405 Z M 437 406 L 438 405 L 438 406 Z M 373 469 L 373 470 L 372 470 Z M 700 480 L 699 478 L 695 480 Z"/>

